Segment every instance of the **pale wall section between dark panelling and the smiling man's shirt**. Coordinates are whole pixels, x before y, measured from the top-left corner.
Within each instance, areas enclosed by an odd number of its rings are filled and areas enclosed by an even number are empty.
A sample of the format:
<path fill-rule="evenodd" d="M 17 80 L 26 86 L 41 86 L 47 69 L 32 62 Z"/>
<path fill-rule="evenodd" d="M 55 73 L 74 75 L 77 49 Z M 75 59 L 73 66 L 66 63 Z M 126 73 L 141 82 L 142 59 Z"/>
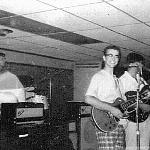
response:
<path fill-rule="evenodd" d="M 99 70 L 98 67 L 82 68 L 82 66 L 74 69 L 74 101 L 84 101 L 91 77 Z"/>

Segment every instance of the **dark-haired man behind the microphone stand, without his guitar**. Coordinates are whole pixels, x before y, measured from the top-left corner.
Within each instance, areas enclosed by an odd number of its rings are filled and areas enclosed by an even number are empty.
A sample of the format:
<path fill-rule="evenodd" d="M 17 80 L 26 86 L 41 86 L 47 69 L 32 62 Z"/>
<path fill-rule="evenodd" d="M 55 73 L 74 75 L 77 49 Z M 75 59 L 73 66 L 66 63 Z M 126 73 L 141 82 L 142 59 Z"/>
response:
<path fill-rule="evenodd" d="M 139 75 L 142 72 L 142 63 L 144 62 L 143 56 L 130 53 L 127 56 L 128 69 L 125 73 L 120 77 L 120 81 L 123 85 L 122 93 L 125 94 L 128 91 L 137 91 L 138 87 L 140 90 L 147 83 L 145 80 Z M 138 83 L 140 86 L 138 86 Z M 145 98 L 150 98 L 150 92 L 147 92 L 147 96 Z M 150 99 L 149 99 L 150 100 Z M 139 103 L 139 107 L 144 111 L 150 111 L 150 105 Z M 128 126 L 125 130 L 126 132 L 126 150 L 137 150 L 137 124 L 136 122 L 129 121 Z M 140 150 L 149 150 L 149 142 L 150 142 L 150 117 L 146 119 L 144 122 L 139 123 L 140 130 Z"/>

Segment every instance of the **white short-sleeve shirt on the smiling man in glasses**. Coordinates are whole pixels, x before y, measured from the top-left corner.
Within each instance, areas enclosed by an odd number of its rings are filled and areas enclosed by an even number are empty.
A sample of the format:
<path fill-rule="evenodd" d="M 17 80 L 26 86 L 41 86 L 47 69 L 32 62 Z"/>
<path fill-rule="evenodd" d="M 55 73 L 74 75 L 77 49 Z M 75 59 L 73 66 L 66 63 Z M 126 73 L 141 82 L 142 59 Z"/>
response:
<path fill-rule="evenodd" d="M 115 78 L 105 70 L 99 71 L 92 77 L 86 95 L 113 103 L 116 98 L 121 96 L 119 88 L 116 86 Z"/>

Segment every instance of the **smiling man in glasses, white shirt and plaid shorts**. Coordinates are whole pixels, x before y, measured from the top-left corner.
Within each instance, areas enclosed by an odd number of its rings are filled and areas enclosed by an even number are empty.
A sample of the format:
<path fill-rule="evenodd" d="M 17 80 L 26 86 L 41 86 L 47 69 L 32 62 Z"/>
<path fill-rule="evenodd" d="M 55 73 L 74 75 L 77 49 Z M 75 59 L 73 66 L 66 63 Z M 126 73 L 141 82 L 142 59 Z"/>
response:
<path fill-rule="evenodd" d="M 122 118 L 121 111 L 111 106 L 116 98 L 121 97 L 118 79 L 113 74 L 114 67 L 121 57 L 120 48 L 108 46 L 104 49 L 104 68 L 97 72 L 91 79 L 86 92 L 85 101 L 100 109 L 109 111 L 117 118 Z M 112 132 L 102 132 L 96 128 L 99 150 L 124 150 L 124 127 L 118 125 Z"/>

